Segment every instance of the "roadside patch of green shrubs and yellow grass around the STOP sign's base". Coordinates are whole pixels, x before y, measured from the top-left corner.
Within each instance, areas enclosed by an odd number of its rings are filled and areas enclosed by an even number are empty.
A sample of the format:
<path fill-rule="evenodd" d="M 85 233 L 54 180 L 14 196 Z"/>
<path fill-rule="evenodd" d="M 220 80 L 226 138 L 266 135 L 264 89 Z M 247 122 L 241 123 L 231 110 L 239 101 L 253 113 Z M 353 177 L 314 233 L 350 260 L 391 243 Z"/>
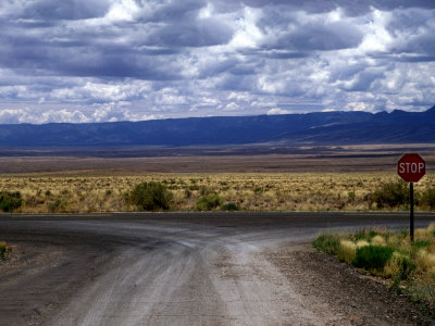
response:
<path fill-rule="evenodd" d="M 313 246 L 338 260 L 390 279 L 393 289 L 410 296 L 435 314 L 435 224 L 407 230 L 361 229 L 355 234 L 323 234 Z"/>

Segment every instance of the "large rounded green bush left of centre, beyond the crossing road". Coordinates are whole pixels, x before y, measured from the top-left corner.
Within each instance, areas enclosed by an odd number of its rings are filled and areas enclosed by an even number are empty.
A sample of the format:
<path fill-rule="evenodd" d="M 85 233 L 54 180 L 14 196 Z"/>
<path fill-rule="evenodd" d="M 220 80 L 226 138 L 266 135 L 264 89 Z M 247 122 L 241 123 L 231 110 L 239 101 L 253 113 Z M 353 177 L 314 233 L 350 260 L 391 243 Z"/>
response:
<path fill-rule="evenodd" d="M 126 199 L 140 211 L 164 211 L 170 209 L 173 195 L 166 186 L 150 181 L 137 185 Z"/>

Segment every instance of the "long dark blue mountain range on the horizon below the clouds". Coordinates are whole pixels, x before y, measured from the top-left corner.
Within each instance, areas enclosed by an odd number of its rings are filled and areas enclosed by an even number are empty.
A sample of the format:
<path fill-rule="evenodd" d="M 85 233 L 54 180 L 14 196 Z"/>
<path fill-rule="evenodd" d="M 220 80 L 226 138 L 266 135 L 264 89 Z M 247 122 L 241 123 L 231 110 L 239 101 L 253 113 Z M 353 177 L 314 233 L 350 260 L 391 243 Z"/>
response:
<path fill-rule="evenodd" d="M 0 147 L 410 143 L 435 141 L 435 106 L 421 112 L 167 118 L 92 124 L 0 125 Z"/>

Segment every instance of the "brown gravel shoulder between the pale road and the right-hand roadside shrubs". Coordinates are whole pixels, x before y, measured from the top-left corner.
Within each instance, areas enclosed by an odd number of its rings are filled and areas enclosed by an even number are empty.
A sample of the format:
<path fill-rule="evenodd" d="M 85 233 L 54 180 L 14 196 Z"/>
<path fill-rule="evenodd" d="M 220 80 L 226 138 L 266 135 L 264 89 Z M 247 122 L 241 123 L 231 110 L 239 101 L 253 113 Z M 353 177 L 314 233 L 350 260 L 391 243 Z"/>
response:
<path fill-rule="evenodd" d="M 435 325 L 418 304 L 389 290 L 386 283 L 315 251 L 288 247 L 268 259 L 319 311 L 339 319 L 330 325 Z"/>

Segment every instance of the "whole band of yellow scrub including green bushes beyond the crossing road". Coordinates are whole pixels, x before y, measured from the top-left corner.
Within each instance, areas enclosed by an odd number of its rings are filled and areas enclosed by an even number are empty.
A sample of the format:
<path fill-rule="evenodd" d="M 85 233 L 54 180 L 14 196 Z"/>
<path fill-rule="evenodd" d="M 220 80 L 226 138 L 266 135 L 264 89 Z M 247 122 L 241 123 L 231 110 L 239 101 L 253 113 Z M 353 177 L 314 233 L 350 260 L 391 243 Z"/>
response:
<path fill-rule="evenodd" d="M 408 210 L 393 173 L 147 173 L 0 176 L 3 212 Z M 415 184 L 419 210 L 435 209 L 435 175 Z M 164 193 L 164 195 L 162 195 Z"/>

